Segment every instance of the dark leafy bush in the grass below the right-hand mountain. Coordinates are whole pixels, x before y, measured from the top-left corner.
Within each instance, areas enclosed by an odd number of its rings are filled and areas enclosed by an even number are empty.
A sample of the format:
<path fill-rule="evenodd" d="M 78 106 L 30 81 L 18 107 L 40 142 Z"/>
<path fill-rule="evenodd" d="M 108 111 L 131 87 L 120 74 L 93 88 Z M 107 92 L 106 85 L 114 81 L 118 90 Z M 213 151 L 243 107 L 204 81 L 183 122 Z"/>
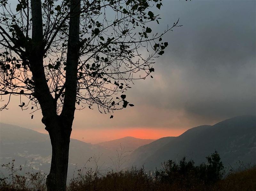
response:
<path fill-rule="evenodd" d="M 161 183 L 179 184 L 184 188 L 190 188 L 194 182 L 213 183 L 220 180 L 224 175 L 224 166 L 220 161 L 217 151 L 207 158 L 207 164 L 195 166 L 191 159 L 183 157 L 179 163 L 168 160 L 162 164 L 163 170 L 156 170 L 156 180 Z"/>

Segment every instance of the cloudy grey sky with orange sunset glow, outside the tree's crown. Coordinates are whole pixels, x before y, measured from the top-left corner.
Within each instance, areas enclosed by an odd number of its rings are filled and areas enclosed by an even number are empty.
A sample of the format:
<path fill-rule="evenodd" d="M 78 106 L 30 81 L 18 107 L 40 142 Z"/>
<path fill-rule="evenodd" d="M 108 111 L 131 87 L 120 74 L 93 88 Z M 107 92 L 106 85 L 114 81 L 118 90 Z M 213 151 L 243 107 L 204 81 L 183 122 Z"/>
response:
<path fill-rule="evenodd" d="M 136 81 L 126 94 L 135 107 L 110 114 L 76 111 L 71 137 L 88 143 L 124 136 L 157 139 L 215 124 L 256 110 L 256 1 L 163 0 L 164 31 L 180 18 L 182 27 L 164 36 L 169 46 L 156 59 L 154 78 Z M 2 103 L 0 103 L 2 104 Z M 42 133 L 40 111 L 31 120 L 18 97 L 0 121 Z"/>

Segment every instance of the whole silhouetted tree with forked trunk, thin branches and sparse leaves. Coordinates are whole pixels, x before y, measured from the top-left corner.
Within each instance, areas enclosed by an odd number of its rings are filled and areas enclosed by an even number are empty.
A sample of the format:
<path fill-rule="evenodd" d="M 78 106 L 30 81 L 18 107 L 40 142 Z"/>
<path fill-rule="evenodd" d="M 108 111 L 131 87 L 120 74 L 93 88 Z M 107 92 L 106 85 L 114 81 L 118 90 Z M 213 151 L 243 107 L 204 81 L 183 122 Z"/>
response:
<path fill-rule="evenodd" d="M 124 93 L 154 72 L 168 46 L 162 36 L 179 20 L 152 32 L 161 0 L 0 3 L 0 110 L 20 96 L 22 110 L 42 111 L 52 144 L 47 190 L 65 190 L 75 110 L 97 108 L 113 118 L 114 110 L 132 107 Z"/>

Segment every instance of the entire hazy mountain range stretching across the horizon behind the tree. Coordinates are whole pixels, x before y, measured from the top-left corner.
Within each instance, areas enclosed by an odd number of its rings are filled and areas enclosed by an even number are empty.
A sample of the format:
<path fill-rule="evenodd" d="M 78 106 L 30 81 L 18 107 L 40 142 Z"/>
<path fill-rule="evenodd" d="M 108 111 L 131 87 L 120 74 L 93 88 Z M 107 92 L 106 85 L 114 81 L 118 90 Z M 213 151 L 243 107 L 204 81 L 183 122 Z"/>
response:
<path fill-rule="evenodd" d="M 124 160 L 130 161 L 124 163 L 122 168 L 136 165 L 144 165 L 146 171 L 155 171 L 156 167 L 161 167 L 161 162 L 172 159 L 179 161 L 186 156 L 187 159 L 193 159 L 196 165 L 206 162 L 205 156 L 217 150 L 220 154 L 224 166 L 237 168 L 236 163 L 240 160 L 244 164 L 251 163 L 255 165 L 256 155 L 256 117 L 239 116 L 215 125 L 203 125 L 189 129 L 178 137 L 163 137 L 156 141 L 136 139 L 137 146 L 143 143 L 149 144 L 140 146 Z M 84 166 L 88 168 L 95 167 L 95 160 L 105 172 L 115 169 L 113 161 L 116 160 L 116 148 L 129 144 L 129 141 L 135 138 L 126 137 L 120 141 L 105 142 L 104 145 L 89 144 L 76 139 L 71 139 L 69 150 L 68 179 L 72 178 L 74 169 Z M 120 143 L 119 143 L 120 142 Z M 103 144 L 103 143 L 102 143 Z M 136 148 L 136 145 L 132 145 Z M 126 150 L 128 151 L 128 150 Z M 24 165 L 26 162 L 34 169 L 49 172 L 51 162 L 51 143 L 49 136 L 38 133 L 31 129 L 1 123 L 0 125 L 0 159 L 1 164 L 12 162 L 15 159 L 15 165 Z M 3 170 L 3 169 L 2 169 Z M 102 171 L 103 172 L 103 171 Z"/>

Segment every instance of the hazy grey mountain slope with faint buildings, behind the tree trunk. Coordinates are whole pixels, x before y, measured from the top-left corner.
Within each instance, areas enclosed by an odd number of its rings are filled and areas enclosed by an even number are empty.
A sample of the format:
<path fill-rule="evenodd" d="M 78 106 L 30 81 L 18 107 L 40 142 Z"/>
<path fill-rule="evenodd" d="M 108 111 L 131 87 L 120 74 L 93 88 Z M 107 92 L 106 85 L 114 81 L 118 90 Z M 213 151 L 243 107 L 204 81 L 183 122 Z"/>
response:
<path fill-rule="evenodd" d="M 19 126 L 0 123 L 0 163 L 7 164 L 15 159 L 15 166 L 31 164 L 33 169 L 49 173 L 51 165 L 51 142 L 49 135 Z M 92 157 L 92 158 L 91 158 Z M 69 178 L 75 168 L 86 164 L 87 168 L 95 167 L 94 158 L 103 169 L 111 167 L 115 159 L 115 152 L 101 147 L 78 141 L 70 140 L 69 148 Z M 91 159 L 90 159 L 91 158 Z M 90 159 L 90 162 L 87 160 Z M 3 169 L 1 169 L 3 171 Z"/>

